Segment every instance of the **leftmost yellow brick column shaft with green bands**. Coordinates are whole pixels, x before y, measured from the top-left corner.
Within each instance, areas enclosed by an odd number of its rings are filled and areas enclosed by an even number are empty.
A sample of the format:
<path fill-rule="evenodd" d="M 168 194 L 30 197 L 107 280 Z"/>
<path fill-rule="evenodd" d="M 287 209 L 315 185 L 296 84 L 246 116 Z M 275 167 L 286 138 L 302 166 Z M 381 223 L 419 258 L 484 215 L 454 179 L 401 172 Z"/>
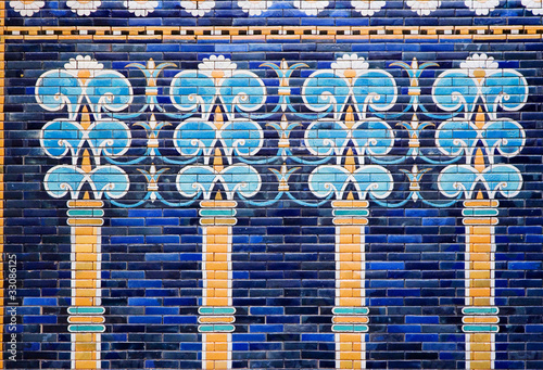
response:
<path fill-rule="evenodd" d="M 72 369 L 101 368 L 101 333 L 105 309 L 101 307 L 101 227 L 103 202 L 68 201 L 72 227 Z"/>

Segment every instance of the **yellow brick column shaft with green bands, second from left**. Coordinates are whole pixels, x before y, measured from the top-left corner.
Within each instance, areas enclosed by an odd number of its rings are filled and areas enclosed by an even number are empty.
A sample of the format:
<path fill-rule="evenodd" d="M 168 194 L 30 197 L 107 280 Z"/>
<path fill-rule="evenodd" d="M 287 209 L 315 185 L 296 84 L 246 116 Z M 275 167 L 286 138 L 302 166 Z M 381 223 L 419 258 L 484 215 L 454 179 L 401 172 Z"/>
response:
<path fill-rule="evenodd" d="M 202 201 L 202 369 L 231 369 L 232 307 L 231 245 L 237 202 Z"/>

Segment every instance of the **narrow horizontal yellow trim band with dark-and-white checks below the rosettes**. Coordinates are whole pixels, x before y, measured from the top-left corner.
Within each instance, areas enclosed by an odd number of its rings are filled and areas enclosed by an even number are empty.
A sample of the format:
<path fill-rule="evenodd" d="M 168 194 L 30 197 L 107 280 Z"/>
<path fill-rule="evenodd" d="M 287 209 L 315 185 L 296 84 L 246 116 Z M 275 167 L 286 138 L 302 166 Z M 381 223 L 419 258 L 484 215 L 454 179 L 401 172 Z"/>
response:
<path fill-rule="evenodd" d="M 4 27 L 5 39 L 541 39 L 541 26 Z"/>

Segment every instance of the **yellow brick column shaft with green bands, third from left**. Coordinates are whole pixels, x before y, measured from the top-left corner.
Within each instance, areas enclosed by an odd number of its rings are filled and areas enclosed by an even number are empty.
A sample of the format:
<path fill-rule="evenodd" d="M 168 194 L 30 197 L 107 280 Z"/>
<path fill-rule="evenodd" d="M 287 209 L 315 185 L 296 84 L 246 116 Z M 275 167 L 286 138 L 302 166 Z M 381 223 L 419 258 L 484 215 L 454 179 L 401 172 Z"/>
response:
<path fill-rule="evenodd" d="M 336 368 L 366 368 L 369 319 L 365 292 L 365 225 L 368 202 L 334 201 L 336 225 Z"/>

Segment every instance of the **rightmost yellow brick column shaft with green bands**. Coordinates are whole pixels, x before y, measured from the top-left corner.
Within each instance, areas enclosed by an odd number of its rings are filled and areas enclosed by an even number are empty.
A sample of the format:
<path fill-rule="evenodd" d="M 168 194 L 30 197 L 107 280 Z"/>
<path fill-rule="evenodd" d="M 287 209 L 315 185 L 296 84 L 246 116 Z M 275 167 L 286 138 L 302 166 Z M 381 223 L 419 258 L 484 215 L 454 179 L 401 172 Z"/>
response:
<path fill-rule="evenodd" d="M 466 335 L 466 369 L 494 369 L 495 333 L 500 330 L 500 309 L 494 302 L 497 206 L 494 200 L 464 202 L 466 307 L 462 321 Z"/>

